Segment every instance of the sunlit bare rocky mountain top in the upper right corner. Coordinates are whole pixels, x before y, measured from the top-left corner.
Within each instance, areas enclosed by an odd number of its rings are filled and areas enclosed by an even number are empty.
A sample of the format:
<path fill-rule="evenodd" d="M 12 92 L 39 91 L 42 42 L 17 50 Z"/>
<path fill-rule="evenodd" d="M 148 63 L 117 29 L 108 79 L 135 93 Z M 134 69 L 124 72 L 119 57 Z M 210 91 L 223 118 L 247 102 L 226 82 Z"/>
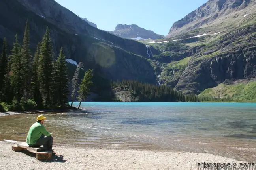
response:
<path fill-rule="evenodd" d="M 167 37 L 175 37 L 192 30 L 217 33 L 233 29 L 254 15 L 256 0 L 209 0 L 181 20 L 175 22 Z"/>

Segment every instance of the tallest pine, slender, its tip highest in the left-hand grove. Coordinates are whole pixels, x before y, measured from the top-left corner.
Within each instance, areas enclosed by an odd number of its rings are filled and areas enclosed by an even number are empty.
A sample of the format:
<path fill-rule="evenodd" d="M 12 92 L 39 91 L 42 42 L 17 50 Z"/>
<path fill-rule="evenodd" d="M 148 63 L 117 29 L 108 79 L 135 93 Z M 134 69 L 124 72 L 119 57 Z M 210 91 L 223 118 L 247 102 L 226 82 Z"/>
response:
<path fill-rule="evenodd" d="M 26 22 L 26 27 L 24 31 L 23 44 L 21 48 L 21 62 L 23 65 L 23 79 L 24 79 L 24 101 L 27 102 L 31 95 L 31 71 L 32 71 L 32 56 L 30 55 L 29 49 L 29 25 Z"/>

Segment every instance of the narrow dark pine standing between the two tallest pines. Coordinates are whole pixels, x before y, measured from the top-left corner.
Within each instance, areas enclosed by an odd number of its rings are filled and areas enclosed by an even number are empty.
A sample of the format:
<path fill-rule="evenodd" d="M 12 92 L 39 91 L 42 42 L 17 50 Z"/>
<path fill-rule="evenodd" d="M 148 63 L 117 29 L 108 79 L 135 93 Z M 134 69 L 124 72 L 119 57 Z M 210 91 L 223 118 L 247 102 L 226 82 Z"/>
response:
<path fill-rule="evenodd" d="M 38 108 L 42 108 L 43 106 L 43 100 L 40 92 L 40 82 L 38 80 L 38 60 L 40 55 L 40 44 L 38 43 L 38 46 L 36 48 L 36 52 L 34 55 L 33 65 L 32 65 L 32 82 L 31 82 L 31 89 L 32 89 L 32 95 L 33 99 L 37 104 Z"/>

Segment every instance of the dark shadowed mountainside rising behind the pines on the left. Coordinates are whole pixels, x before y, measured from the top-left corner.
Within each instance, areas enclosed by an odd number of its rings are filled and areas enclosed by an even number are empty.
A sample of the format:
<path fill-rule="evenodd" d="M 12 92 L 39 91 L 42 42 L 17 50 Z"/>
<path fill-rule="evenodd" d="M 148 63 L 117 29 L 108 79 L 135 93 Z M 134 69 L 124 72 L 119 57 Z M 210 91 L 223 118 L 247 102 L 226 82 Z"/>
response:
<path fill-rule="evenodd" d="M 62 46 L 68 59 L 83 62 L 85 69 L 100 67 L 107 79 L 156 82 L 147 58 L 148 48 L 151 55 L 157 50 L 98 30 L 54 0 L 1 0 L 0 43 L 6 37 L 11 46 L 16 33 L 21 41 L 26 20 L 30 24 L 32 53 L 48 26 L 55 57 Z"/>

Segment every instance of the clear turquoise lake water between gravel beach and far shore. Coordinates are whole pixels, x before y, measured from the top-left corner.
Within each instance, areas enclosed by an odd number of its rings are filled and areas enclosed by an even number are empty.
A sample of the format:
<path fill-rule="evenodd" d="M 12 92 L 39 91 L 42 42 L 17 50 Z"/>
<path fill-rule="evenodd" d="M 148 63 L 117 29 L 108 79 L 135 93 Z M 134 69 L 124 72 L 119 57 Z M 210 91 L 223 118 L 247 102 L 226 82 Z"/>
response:
<path fill-rule="evenodd" d="M 256 152 L 246 149 L 256 148 L 256 103 L 84 102 L 81 107 L 86 110 L 45 115 L 55 143 L 256 160 Z M 37 115 L 0 117 L 0 139 L 25 141 Z"/>

